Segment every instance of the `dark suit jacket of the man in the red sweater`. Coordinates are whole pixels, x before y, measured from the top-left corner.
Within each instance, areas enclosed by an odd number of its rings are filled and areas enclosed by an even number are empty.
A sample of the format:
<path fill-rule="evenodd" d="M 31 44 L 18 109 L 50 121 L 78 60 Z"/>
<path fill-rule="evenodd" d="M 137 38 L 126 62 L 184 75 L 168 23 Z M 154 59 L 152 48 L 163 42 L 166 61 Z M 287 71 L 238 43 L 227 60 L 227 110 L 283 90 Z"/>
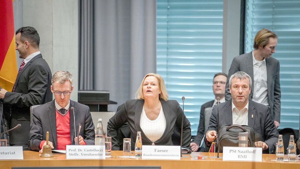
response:
<path fill-rule="evenodd" d="M 53 143 L 54 150 L 56 150 L 57 133 L 54 101 L 33 109 L 28 142 L 29 150 L 40 151 L 39 145 L 42 140 L 46 140 L 47 131 L 49 131 L 49 141 Z M 83 137 L 87 145 L 95 145 L 95 127 L 89 107 L 72 100 L 70 100 L 70 107 L 74 107 L 76 134 L 78 133 L 78 124 L 82 123 L 79 135 Z M 70 110 L 70 139 L 72 145 L 75 145 L 74 138 L 74 116 L 73 111 Z"/>

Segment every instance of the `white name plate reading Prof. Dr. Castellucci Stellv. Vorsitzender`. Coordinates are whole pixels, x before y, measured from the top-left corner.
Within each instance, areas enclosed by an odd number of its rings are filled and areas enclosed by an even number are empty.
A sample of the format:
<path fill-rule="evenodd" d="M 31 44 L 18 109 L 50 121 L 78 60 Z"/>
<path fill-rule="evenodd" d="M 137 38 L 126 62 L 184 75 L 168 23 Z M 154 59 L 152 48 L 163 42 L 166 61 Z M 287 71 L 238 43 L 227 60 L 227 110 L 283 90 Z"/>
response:
<path fill-rule="evenodd" d="M 66 159 L 105 159 L 105 146 L 67 145 Z"/>

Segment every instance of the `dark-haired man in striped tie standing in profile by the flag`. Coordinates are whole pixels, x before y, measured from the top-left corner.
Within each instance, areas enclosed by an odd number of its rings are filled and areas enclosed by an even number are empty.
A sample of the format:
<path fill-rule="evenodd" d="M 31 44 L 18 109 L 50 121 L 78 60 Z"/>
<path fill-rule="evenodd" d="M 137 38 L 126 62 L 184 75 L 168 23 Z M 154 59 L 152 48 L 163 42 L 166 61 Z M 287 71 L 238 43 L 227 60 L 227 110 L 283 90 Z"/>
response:
<path fill-rule="evenodd" d="M 28 150 L 30 107 L 52 100 L 50 90 L 52 74 L 39 51 L 40 37 L 35 28 L 22 27 L 16 31 L 16 50 L 24 59 L 20 65 L 12 92 L 0 90 L 3 106 L 9 112 L 10 128 L 21 124 L 9 134 L 10 146 L 23 146 Z"/>

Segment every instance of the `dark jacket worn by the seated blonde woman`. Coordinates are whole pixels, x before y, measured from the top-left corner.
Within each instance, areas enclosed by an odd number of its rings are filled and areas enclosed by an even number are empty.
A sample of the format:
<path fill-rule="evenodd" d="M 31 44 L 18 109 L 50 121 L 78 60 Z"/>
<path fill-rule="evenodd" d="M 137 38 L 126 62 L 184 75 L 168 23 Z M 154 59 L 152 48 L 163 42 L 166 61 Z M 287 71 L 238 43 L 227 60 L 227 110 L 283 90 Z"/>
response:
<path fill-rule="evenodd" d="M 152 141 L 146 137 L 141 129 L 139 123 L 141 118 L 141 113 L 143 109 L 144 100 L 128 100 L 117 113 L 110 118 L 107 123 L 107 135 L 112 137 L 112 149 L 118 149 L 118 129 L 123 126 L 124 123 L 128 122 L 131 135 L 131 148 L 134 149 L 136 142 L 137 131 L 142 134 L 143 145 L 151 145 Z M 166 129 L 164 134 L 157 141 L 154 142 L 155 145 L 173 145 L 171 136 L 174 131 L 175 125 L 181 129 L 181 119 L 183 111 L 179 107 L 179 103 L 175 100 L 163 101 L 161 100 L 161 105 L 164 110 L 164 116 L 166 118 Z M 190 149 L 191 140 L 191 127 L 189 120 L 184 116 L 183 118 L 183 141 L 182 147 Z"/>

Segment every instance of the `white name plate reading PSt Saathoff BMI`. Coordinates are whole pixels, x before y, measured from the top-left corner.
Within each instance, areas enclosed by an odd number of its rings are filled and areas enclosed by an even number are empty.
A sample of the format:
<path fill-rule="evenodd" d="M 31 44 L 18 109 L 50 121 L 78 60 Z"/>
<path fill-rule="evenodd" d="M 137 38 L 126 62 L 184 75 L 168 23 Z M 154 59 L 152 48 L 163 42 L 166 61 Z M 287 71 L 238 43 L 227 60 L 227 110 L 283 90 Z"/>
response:
<path fill-rule="evenodd" d="M 262 161 L 261 147 L 223 147 L 224 161 Z"/>

